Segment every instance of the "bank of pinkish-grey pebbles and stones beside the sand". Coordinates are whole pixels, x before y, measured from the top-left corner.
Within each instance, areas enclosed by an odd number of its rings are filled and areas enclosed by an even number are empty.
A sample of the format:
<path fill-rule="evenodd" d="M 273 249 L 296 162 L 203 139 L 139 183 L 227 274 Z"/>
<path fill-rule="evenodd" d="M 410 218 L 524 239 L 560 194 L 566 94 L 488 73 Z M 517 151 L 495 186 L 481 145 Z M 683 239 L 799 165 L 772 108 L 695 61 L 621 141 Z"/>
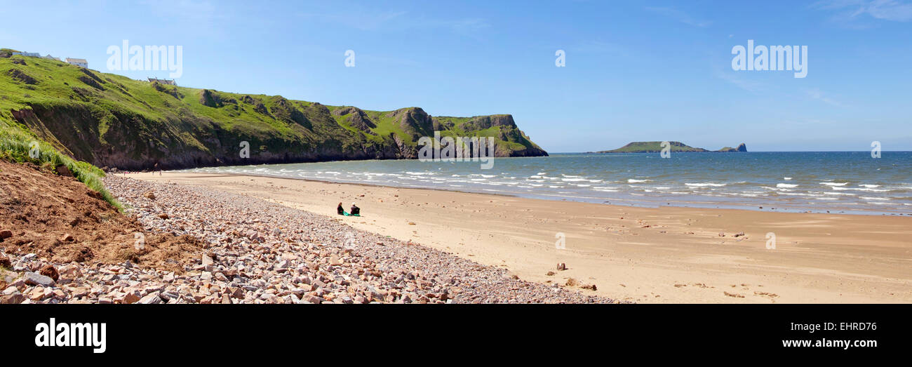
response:
<path fill-rule="evenodd" d="M 176 262 L 61 264 L 6 254 L 13 271 L 2 270 L 3 303 L 613 302 L 244 195 L 116 175 L 105 184 L 147 231 L 198 238 L 195 263 L 174 271 Z"/>

